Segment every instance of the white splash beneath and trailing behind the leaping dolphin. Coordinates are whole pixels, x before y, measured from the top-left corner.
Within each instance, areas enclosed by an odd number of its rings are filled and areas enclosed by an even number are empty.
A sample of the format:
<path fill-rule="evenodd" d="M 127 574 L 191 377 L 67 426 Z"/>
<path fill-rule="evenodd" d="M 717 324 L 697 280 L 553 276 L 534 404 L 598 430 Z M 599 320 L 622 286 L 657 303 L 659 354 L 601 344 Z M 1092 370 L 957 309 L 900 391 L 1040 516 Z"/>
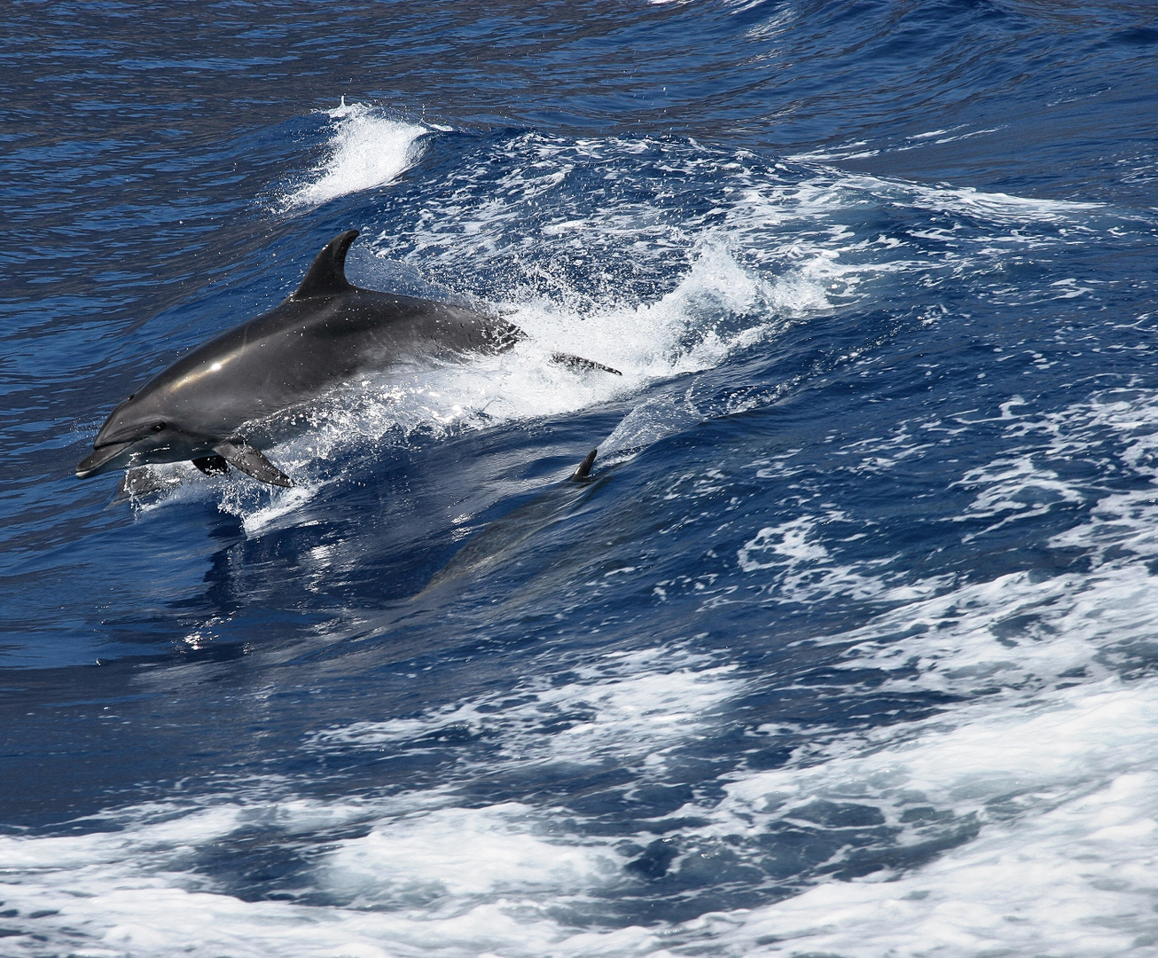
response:
<path fill-rule="evenodd" d="M 351 456 L 382 455 L 391 444 L 419 433 L 445 437 L 615 401 L 651 383 L 718 366 L 827 307 L 823 287 L 801 271 L 765 279 L 718 242 L 698 249 L 675 288 L 651 304 L 609 300 L 587 313 L 565 299 L 527 295 L 504 310 L 528 335 L 510 352 L 401 375 L 366 375 L 308 410 L 295 410 L 295 417 L 303 417 L 299 434 L 269 451 L 293 476 L 295 488 L 281 491 L 237 476 L 205 482 L 188 463 L 153 466 L 162 491 L 142 509 L 210 496 L 219 499 L 222 512 L 242 520 L 247 534 L 256 535 L 293 521 L 301 505 L 340 476 Z M 622 375 L 577 372 L 552 363 L 556 352 L 606 363 Z M 652 408 L 646 402 L 644 407 L 640 415 Z M 611 446 L 636 451 L 667 434 L 666 426 L 704 415 L 695 403 L 681 407 L 675 417 L 661 417 L 660 425 L 648 418 L 644 432 L 633 430 Z"/>

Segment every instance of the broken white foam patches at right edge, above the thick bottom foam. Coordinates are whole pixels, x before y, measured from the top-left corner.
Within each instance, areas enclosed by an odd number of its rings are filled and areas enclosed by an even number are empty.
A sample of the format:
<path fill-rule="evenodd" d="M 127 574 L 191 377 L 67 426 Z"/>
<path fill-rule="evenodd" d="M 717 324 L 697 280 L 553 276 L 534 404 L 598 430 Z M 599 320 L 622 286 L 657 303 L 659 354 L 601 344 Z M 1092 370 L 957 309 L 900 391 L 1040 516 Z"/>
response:
<path fill-rule="evenodd" d="M 1023 414 L 1019 400 L 999 421 L 1010 452 L 967 469 L 957 487 L 973 502 L 945 520 L 961 526 L 961 542 L 984 543 L 1011 522 L 1040 520 L 1057 510 L 1086 518 L 1040 543 L 1071 550 L 1085 564 L 1042 576 L 1035 569 L 988 580 L 952 576 L 914 578 L 888 556 L 848 563 L 834 549 L 834 528 L 858 527 L 838 510 L 806 503 L 801 514 L 754 526 L 735 554 L 750 576 L 748 593 L 705 590 L 710 604 L 813 605 L 853 598 L 880 609 L 856 629 L 818 637 L 848 646 L 840 667 L 880 670 L 882 688 L 972 696 L 981 689 L 1012 700 L 1075 677 L 1093 680 L 1148 661 L 1158 629 L 1158 598 L 1148 563 L 1158 558 L 1158 396 L 1144 390 L 1098 394 L 1043 416 Z M 887 470 L 930 438 L 952 434 L 958 423 L 908 424 L 897 434 L 850 447 L 857 468 Z M 923 434 L 922 434 L 923 433 Z M 1089 480 L 1068 480 L 1058 465 L 1107 458 L 1148 480 L 1129 492 L 1101 492 Z M 757 476 L 789 478 L 778 463 L 754 463 Z M 979 520 L 981 520 L 979 522 Z M 968 525 L 965 525 L 967 524 Z M 866 609 L 867 610 L 867 609 Z M 895 678 L 893 678 L 895 677 Z"/>

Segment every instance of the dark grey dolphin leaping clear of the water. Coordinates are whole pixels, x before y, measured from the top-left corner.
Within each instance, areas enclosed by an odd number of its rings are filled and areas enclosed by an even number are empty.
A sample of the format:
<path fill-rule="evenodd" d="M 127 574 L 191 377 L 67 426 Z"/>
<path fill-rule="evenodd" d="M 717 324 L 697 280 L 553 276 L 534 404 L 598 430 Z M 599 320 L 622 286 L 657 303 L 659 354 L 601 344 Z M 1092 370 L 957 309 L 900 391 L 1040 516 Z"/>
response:
<path fill-rule="evenodd" d="M 233 466 L 290 487 L 256 445 L 269 438 L 263 419 L 359 374 L 496 354 L 526 338 L 513 323 L 461 306 L 354 286 L 345 262 L 357 236 L 335 236 L 281 304 L 198 346 L 113 409 L 76 477 L 129 469 L 122 487 L 132 490 L 135 467 L 191 460 L 206 475 Z M 569 353 L 551 360 L 622 375 Z"/>

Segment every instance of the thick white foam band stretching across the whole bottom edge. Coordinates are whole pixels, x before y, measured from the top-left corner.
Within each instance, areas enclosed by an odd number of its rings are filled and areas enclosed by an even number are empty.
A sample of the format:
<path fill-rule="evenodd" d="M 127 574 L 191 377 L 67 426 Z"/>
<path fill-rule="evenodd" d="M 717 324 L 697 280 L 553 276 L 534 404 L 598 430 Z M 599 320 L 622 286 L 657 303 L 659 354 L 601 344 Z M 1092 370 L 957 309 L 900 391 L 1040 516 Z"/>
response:
<path fill-rule="evenodd" d="M 598 700 L 604 692 L 582 695 Z M 609 744 L 651 734 L 628 721 Z M 624 858 L 607 840 L 560 832 L 549 811 L 525 804 L 454 806 L 444 790 L 425 804 L 147 806 L 111 816 L 124 826 L 118 832 L 0 839 L 0 887 L 17 913 L 6 923 L 42 936 L 7 941 L 14 955 L 67 946 L 107 958 L 662 958 L 705 948 L 726 956 L 846 958 L 1143 955 L 1158 933 L 1156 732 L 1158 682 L 1107 679 L 1019 709 L 974 702 L 907 724 L 901 734 L 880 727 L 836 737 L 804 767 L 733 775 L 723 798 L 680 811 L 703 822 L 682 829 L 681 841 L 716 839 L 742 849 L 818 802 L 878 810 L 901 831 L 902 844 L 924 839 L 922 810 L 973 821 L 980 834 L 916 870 L 821 882 L 774 905 L 651 929 L 580 931 L 552 914 L 614 887 Z M 368 744 L 376 734 L 351 729 L 328 740 Z M 352 822 L 365 822 L 366 834 L 331 843 L 305 877 L 315 893 L 344 905 L 242 901 L 191 868 L 199 849 L 228 844 L 254 826 L 308 834 Z"/>

